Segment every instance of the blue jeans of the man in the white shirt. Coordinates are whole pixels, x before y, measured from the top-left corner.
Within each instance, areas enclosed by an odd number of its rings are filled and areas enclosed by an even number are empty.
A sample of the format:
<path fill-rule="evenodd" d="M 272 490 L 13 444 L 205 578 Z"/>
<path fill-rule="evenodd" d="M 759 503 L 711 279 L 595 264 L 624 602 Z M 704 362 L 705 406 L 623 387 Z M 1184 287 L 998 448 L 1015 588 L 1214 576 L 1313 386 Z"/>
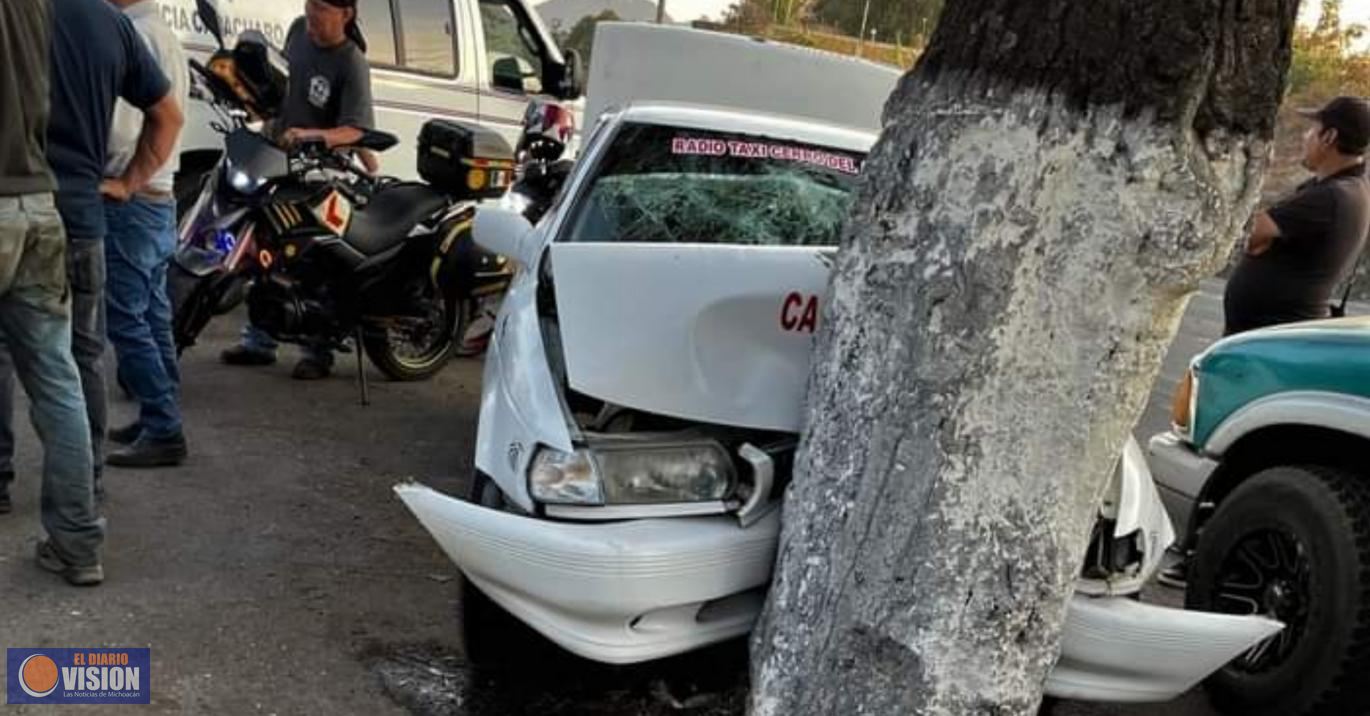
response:
<path fill-rule="evenodd" d="M 119 381 L 138 401 L 151 438 L 181 435 L 181 372 L 171 338 L 167 266 L 175 252 L 175 201 L 105 201 L 105 309 Z"/>

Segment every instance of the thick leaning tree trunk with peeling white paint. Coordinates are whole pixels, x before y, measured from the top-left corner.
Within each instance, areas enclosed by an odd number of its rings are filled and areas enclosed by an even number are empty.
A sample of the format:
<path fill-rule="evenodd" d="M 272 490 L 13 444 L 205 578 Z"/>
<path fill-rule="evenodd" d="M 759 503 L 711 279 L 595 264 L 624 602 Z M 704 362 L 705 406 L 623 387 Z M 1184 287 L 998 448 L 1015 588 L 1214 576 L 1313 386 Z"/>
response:
<path fill-rule="evenodd" d="M 751 712 L 1028 715 L 1296 0 L 948 0 L 832 282 Z"/>

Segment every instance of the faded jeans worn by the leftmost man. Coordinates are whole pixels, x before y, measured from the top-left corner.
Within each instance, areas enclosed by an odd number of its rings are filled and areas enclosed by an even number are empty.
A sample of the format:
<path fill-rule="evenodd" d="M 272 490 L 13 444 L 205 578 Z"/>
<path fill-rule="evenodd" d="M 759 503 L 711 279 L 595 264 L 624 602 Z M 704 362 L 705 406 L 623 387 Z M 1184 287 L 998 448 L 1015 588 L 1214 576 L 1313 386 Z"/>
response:
<path fill-rule="evenodd" d="M 63 559 L 88 567 L 100 561 L 104 520 L 95 511 L 90 419 L 73 356 L 77 292 L 67 255 L 51 194 L 0 197 L 4 467 L 12 470 L 8 418 L 18 372 L 42 441 L 42 527 Z"/>

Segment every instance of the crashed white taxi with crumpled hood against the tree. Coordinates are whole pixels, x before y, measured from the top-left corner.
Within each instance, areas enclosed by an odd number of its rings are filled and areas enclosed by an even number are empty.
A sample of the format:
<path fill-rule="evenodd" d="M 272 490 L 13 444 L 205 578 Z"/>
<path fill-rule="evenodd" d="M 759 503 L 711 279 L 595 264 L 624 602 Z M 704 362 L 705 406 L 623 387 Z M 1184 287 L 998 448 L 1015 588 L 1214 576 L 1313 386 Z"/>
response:
<path fill-rule="evenodd" d="M 869 131 L 677 104 L 606 114 L 537 226 L 485 364 L 474 501 L 399 496 L 474 586 L 606 663 L 752 628 L 771 578 L 827 259 Z M 490 498 L 492 493 L 497 498 Z M 1129 445 L 1047 685 L 1163 701 L 1280 624 L 1134 598 L 1174 538 Z"/>

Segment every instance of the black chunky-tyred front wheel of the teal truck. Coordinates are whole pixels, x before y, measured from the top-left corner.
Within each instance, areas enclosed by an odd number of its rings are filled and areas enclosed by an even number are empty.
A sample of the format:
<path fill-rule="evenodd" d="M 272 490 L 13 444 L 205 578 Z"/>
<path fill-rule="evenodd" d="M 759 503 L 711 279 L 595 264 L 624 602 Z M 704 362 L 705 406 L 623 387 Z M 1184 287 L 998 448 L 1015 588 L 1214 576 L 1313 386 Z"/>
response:
<path fill-rule="evenodd" d="M 1204 524 L 1186 606 L 1284 622 L 1206 682 L 1243 716 L 1370 713 L 1370 479 L 1273 467 Z"/>

